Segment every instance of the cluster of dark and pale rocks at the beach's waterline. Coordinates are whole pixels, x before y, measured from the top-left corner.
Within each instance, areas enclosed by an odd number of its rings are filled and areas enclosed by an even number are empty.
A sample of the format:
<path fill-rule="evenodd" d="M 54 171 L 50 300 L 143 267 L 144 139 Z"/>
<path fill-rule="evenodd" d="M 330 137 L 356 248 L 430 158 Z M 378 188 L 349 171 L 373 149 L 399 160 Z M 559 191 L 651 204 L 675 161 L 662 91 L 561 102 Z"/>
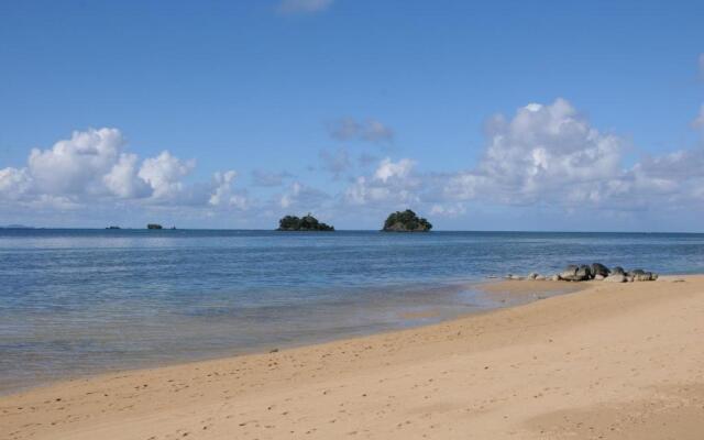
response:
<path fill-rule="evenodd" d="M 590 279 L 604 280 L 608 283 L 628 283 L 628 282 L 651 282 L 658 279 L 658 274 L 646 272 L 637 268 L 626 272 L 620 266 L 608 268 L 601 263 L 592 265 L 570 264 L 562 272 L 554 275 L 540 275 L 536 272 L 526 276 L 506 275 L 506 279 L 535 279 L 535 280 L 553 280 L 553 282 L 586 282 Z"/>

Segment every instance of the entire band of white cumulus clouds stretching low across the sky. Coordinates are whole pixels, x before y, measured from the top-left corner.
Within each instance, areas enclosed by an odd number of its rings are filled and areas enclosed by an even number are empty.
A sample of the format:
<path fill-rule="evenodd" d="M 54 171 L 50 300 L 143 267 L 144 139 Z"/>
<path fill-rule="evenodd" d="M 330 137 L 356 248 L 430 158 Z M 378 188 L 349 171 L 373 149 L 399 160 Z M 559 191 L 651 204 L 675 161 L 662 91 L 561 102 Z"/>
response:
<path fill-rule="evenodd" d="M 694 127 L 704 128 L 704 108 Z M 340 136 L 361 139 L 359 130 L 352 132 Z M 288 173 L 256 170 L 251 175 L 253 187 L 282 187 L 262 204 L 254 189 L 250 195 L 240 187 L 234 170 L 188 183 L 194 161 L 166 150 L 141 158 L 128 150 L 119 130 L 98 129 L 74 132 L 48 148 L 32 150 L 24 167 L 0 168 L 0 206 L 8 212 L 13 207 L 68 210 L 119 204 L 148 209 L 188 207 L 212 216 L 246 209 L 248 218 L 268 218 L 280 210 L 323 210 L 334 217 L 334 212 L 358 209 L 378 213 L 403 208 L 453 218 L 480 202 L 619 215 L 702 209 L 704 145 L 628 156 L 634 151 L 620 136 L 596 129 L 570 102 L 557 99 L 491 118 L 482 154 L 472 166 L 420 172 L 409 157 L 372 156 L 365 156 L 360 166 L 345 148 L 322 151 L 320 169 L 336 177 L 349 176 L 353 169 L 364 172 L 321 190 L 299 180 L 284 186 L 293 177 Z"/>

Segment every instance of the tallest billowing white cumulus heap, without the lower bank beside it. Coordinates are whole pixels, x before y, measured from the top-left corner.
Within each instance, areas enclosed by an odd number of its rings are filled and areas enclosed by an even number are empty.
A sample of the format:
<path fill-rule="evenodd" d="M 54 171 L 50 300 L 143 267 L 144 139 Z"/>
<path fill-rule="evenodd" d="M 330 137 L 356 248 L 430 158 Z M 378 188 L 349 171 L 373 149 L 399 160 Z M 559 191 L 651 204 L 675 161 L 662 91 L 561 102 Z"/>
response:
<path fill-rule="evenodd" d="M 568 101 L 531 103 L 507 120 L 494 117 L 479 165 L 458 173 L 449 196 L 488 196 L 506 204 L 594 200 L 601 184 L 618 177 L 624 141 L 593 128 Z"/>

